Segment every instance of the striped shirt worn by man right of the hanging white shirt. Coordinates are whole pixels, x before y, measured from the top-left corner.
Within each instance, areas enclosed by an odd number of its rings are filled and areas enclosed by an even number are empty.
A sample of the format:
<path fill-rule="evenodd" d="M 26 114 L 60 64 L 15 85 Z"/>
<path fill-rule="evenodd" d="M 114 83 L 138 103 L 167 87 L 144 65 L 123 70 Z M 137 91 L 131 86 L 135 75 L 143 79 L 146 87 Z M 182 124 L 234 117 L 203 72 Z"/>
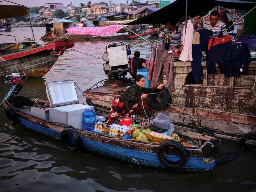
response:
<path fill-rule="evenodd" d="M 225 25 L 225 23 L 223 23 L 220 20 L 218 20 L 218 22 L 216 23 L 216 25 L 214 27 L 211 26 L 210 20 L 204 20 L 203 22 L 199 22 L 197 24 L 197 28 L 202 28 L 202 27 L 204 29 L 213 31 L 213 37 L 218 37 L 220 32 L 223 33 L 223 36 L 227 35 L 227 31 L 225 31 L 226 25 Z M 223 31 L 225 31 L 225 32 L 223 32 Z"/>

